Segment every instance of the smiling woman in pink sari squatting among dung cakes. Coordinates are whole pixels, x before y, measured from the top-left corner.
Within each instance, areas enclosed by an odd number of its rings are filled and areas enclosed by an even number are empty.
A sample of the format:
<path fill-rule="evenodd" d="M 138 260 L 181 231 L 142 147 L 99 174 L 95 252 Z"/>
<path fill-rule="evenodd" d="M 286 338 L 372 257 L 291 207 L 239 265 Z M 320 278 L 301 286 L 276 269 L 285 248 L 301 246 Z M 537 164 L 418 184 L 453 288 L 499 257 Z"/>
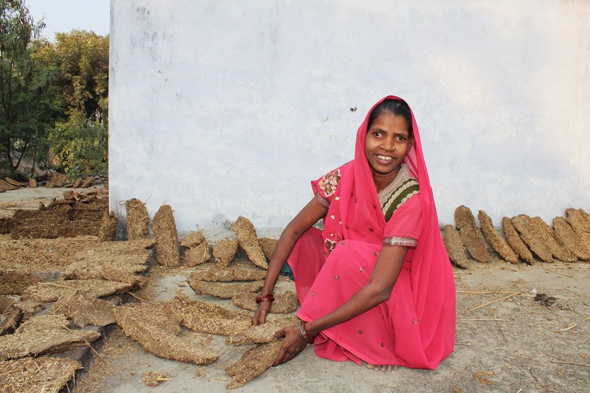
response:
<path fill-rule="evenodd" d="M 277 242 L 252 319 L 265 323 L 287 260 L 302 323 L 275 333 L 285 339 L 274 365 L 314 342 L 320 357 L 376 370 L 436 368 L 453 350 L 454 278 L 407 104 L 377 102 L 358 129 L 355 159 L 312 187 L 314 199 Z M 322 232 L 312 227 L 320 218 Z"/>

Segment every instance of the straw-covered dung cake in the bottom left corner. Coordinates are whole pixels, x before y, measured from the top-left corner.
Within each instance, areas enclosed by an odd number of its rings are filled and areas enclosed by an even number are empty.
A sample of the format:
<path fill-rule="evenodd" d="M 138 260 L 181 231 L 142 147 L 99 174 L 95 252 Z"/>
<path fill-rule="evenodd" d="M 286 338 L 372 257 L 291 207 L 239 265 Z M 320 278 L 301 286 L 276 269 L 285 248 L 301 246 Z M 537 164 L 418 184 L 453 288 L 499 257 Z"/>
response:
<path fill-rule="evenodd" d="M 0 361 L 0 391 L 59 393 L 80 368 L 75 360 L 56 357 Z"/>

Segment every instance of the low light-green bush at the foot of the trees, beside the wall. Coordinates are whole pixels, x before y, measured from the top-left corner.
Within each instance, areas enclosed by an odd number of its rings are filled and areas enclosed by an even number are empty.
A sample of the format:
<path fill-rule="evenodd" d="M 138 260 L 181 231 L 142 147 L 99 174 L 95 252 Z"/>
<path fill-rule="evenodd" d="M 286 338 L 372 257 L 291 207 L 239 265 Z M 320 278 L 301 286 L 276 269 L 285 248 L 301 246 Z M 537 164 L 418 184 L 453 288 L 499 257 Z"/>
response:
<path fill-rule="evenodd" d="M 71 109 L 67 121 L 58 123 L 50 138 L 51 149 L 70 179 L 107 172 L 106 128 Z"/>

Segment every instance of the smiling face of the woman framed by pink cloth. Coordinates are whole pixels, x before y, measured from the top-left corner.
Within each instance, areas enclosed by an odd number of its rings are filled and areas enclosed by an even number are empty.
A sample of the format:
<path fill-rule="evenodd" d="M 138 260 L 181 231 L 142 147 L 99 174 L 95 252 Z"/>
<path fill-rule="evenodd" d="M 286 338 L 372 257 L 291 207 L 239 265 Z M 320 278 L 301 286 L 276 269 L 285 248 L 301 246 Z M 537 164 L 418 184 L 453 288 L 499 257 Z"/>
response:
<path fill-rule="evenodd" d="M 380 114 L 367 131 L 366 152 L 373 178 L 376 180 L 378 176 L 391 182 L 413 144 L 403 116 L 391 112 Z"/>

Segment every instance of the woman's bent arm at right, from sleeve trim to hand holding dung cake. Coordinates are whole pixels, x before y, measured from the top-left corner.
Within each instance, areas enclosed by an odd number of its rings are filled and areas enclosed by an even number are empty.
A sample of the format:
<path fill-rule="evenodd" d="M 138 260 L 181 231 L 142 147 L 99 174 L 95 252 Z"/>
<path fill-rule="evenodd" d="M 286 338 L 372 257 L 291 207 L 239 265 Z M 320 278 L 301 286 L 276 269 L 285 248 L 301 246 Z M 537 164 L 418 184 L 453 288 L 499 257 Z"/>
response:
<path fill-rule="evenodd" d="M 405 246 L 384 246 L 381 248 L 381 254 L 377 259 L 367 285 L 360 288 L 360 291 L 348 300 L 348 302 L 333 312 L 330 312 L 325 317 L 316 319 L 315 321 L 309 321 L 306 324 L 308 335 L 317 335 L 317 333 L 320 333 L 324 329 L 331 328 L 334 325 L 348 321 L 348 319 L 357 317 L 363 312 L 388 300 L 393 290 L 393 284 L 395 284 L 402 271 L 406 253 L 407 247 Z M 285 336 L 285 339 L 273 366 L 293 359 L 307 345 L 298 326 L 288 326 L 281 331 L 277 331 L 275 336 Z"/>

